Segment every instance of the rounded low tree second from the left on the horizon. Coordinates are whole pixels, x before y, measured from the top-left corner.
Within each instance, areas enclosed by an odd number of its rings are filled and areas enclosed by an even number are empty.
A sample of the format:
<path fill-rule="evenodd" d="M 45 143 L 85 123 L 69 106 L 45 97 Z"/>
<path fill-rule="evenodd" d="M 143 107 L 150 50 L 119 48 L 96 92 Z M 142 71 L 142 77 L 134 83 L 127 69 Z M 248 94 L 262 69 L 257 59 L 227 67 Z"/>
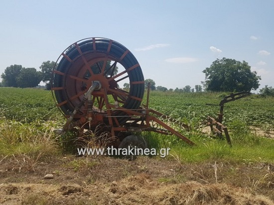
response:
<path fill-rule="evenodd" d="M 36 71 L 35 68 L 22 68 L 19 76 L 16 78 L 18 87 L 33 88 L 41 81 L 41 72 Z"/>

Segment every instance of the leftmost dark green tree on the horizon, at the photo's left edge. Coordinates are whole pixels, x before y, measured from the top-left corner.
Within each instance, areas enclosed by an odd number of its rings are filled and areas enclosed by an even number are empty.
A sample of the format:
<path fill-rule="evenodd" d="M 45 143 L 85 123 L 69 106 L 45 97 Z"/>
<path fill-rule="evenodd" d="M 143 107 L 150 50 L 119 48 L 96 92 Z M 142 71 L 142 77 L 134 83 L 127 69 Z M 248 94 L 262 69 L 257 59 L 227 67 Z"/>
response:
<path fill-rule="evenodd" d="M 9 67 L 6 67 L 4 72 L 1 74 L 1 78 L 3 79 L 4 85 L 6 87 L 18 87 L 16 78 L 21 73 L 21 70 L 21 65 L 11 65 Z"/>

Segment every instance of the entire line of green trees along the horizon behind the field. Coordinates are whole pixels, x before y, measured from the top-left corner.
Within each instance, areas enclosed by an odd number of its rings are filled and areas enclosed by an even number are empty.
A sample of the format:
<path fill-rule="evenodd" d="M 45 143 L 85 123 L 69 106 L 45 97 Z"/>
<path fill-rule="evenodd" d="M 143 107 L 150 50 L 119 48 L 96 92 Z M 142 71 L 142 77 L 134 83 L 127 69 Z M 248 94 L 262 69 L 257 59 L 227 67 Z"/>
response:
<path fill-rule="evenodd" d="M 39 67 L 41 71 L 35 68 L 24 68 L 21 65 L 11 65 L 1 74 L 2 82 L 0 86 L 5 87 L 36 87 L 41 81 L 50 88 L 50 78 L 54 61 L 45 61 Z M 195 85 L 191 88 L 189 85 L 179 89 L 167 89 L 163 86 L 157 86 L 152 79 L 146 79 L 145 88 L 150 85 L 151 90 L 170 91 L 170 92 L 241 92 L 257 90 L 260 86 L 261 76 L 256 71 L 251 71 L 251 66 L 246 61 L 240 62 L 235 59 L 217 59 L 210 67 L 202 71 L 205 74 L 205 81 L 201 85 Z M 130 89 L 130 84 L 125 83 L 124 89 Z M 274 88 L 266 86 L 260 90 L 264 96 L 274 96 Z"/>

